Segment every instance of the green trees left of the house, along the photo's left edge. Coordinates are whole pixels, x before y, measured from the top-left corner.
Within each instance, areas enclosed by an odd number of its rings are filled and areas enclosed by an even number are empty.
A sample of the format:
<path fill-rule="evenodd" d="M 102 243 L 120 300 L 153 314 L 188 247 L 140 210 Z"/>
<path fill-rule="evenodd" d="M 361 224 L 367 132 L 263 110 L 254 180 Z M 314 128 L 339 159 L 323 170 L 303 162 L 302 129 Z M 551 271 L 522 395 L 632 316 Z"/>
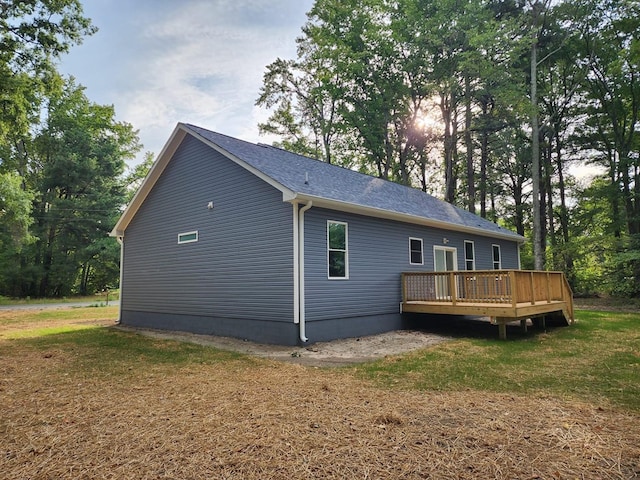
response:
<path fill-rule="evenodd" d="M 78 0 L 0 5 L 0 295 L 55 297 L 117 285 L 108 237 L 127 202 L 133 127 L 56 61 L 96 31 Z"/>

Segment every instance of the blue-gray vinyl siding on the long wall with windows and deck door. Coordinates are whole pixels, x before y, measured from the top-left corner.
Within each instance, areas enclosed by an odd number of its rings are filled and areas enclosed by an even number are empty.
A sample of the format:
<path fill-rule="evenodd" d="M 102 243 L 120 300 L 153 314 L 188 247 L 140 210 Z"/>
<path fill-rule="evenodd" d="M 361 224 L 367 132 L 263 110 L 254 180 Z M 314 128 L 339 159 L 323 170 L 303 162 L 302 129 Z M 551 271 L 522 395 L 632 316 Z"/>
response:
<path fill-rule="evenodd" d="M 327 278 L 327 221 L 348 224 L 349 279 Z M 423 239 L 424 265 L 409 262 L 409 238 Z M 448 243 L 444 243 L 443 239 Z M 375 219 L 320 208 L 305 216 L 306 319 L 399 316 L 400 274 L 433 271 L 433 246 L 457 249 L 458 269 L 465 268 L 464 241 L 475 243 L 476 269 L 492 268 L 492 245 L 501 247 L 502 267 L 518 267 L 517 243 L 489 237 Z"/>

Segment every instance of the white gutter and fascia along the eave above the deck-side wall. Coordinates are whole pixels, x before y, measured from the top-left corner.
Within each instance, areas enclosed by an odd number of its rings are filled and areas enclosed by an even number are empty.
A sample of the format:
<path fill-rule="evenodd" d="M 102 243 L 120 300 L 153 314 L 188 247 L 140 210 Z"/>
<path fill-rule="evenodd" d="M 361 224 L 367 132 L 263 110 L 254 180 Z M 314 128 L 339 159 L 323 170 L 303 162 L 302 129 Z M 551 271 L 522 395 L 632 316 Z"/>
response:
<path fill-rule="evenodd" d="M 499 238 L 499 239 L 508 240 L 511 242 L 518 242 L 519 244 L 522 244 L 526 241 L 524 237 L 521 237 L 520 235 L 517 235 L 515 233 L 505 234 L 500 232 L 491 232 L 489 230 L 484 230 L 482 228 L 467 227 L 465 225 L 458 225 L 455 223 L 443 222 L 441 220 L 418 217 L 416 215 L 408 215 L 406 213 L 392 212 L 392 211 L 384 210 L 381 208 L 367 207 L 367 206 L 358 205 L 355 203 L 340 202 L 338 200 L 331 200 L 327 198 L 316 197 L 313 195 L 299 194 L 291 198 L 284 199 L 284 201 L 288 201 L 288 202 L 297 201 L 301 203 L 304 203 L 310 200 L 313 201 L 314 207 L 319 207 L 319 208 L 328 208 L 331 210 L 338 210 L 341 212 L 364 215 L 367 217 L 384 218 L 386 220 L 395 220 L 398 222 L 412 223 L 415 225 L 423 225 L 426 227 L 440 228 L 442 230 L 451 230 L 456 232 L 469 233 L 473 235 L 480 235 L 483 237 Z"/>

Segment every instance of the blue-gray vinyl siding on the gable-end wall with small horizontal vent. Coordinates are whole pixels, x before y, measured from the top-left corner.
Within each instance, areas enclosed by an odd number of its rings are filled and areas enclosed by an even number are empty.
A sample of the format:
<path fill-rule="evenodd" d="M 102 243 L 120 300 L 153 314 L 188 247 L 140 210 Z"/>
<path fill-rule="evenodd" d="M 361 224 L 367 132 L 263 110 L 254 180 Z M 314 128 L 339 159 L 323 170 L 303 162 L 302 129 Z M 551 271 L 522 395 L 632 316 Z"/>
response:
<path fill-rule="evenodd" d="M 187 135 L 125 231 L 123 323 L 154 326 L 155 312 L 159 328 L 194 331 L 190 318 L 253 339 L 245 320 L 292 324 L 292 215 L 278 190 Z M 198 241 L 178 244 L 191 231 Z"/>

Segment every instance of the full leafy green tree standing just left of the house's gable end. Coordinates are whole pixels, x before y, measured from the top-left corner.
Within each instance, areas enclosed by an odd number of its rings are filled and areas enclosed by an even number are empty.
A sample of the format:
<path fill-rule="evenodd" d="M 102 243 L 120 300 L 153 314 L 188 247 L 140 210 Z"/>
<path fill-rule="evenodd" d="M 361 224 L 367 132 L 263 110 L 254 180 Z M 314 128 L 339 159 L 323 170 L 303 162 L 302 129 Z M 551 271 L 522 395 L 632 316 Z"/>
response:
<path fill-rule="evenodd" d="M 140 146 L 133 128 L 115 120 L 113 107 L 91 103 L 83 90 L 71 79 L 51 96 L 30 152 L 38 241 L 23 253 L 30 273 L 22 295 L 87 293 L 100 287 L 94 277 L 117 280 L 117 248 L 104 240 L 125 201 L 125 160 Z M 98 274 L 104 268 L 109 275 Z"/>

